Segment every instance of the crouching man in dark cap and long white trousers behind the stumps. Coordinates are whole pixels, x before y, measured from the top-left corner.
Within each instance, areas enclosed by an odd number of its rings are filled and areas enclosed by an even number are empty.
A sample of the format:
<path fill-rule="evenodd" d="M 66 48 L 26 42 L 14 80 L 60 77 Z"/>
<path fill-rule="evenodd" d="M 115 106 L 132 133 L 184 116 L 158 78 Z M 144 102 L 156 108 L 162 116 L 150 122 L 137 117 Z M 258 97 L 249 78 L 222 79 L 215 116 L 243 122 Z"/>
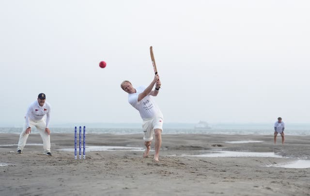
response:
<path fill-rule="evenodd" d="M 40 136 L 43 140 L 43 153 L 51 156 L 50 152 L 50 140 L 49 140 L 49 133 L 50 130 L 48 128 L 49 119 L 50 119 L 50 105 L 45 101 L 46 96 L 44 93 L 40 93 L 38 95 L 37 101 L 33 102 L 27 110 L 25 116 L 25 124 L 23 127 L 23 131 L 19 136 L 18 146 L 17 146 L 17 153 L 22 153 L 24 147 L 26 145 L 28 136 L 31 132 L 31 127 L 36 127 L 39 131 Z M 46 121 L 43 118 L 47 115 Z"/>

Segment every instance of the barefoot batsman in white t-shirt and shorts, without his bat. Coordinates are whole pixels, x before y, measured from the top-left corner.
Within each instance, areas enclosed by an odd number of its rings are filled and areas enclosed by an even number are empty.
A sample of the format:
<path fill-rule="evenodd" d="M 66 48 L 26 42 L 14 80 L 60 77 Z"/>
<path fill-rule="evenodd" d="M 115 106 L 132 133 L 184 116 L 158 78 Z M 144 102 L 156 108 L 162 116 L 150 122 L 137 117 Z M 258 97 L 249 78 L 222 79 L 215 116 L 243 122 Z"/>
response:
<path fill-rule="evenodd" d="M 155 90 L 152 90 L 155 85 Z M 153 81 L 148 87 L 140 86 L 137 89 L 125 80 L 121 88 L 128 93 L 128 102 L 131 106 L 140 112 L 143 120 L 142 128 L 144 132 L 143 140 L 146 150 L 143 157 L 148 157 L 151 150 L 151 142 L 155 135 L 155 155 L 154 161 L 158 162 L 159 150 L 161 147 L 161 132 L 163 130 L 163 115 L 151 96 L 157 96 L 160 88 L 159 76 L 155 75 Z"/>

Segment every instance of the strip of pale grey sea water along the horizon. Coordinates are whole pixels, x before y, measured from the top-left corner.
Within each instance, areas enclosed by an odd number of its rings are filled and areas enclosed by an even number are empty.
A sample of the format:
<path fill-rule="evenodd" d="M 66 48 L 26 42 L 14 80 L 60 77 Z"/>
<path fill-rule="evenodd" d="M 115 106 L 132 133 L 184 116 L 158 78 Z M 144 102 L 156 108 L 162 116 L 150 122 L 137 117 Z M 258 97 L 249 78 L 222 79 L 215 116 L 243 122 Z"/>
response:
<path fill-rule="evenodd" d="M 140 124 L 108 124 L 100 125 L 102 128 L 96 128 L 93 124 L 80 124 L 86 125 L 86 131 L 89 134 L 116 134 L 116 135 L 128 135 L 128 134 L 141 134 L 143 133 Z M 119 127 L 117 127 L 119 125 Z M 65 125 L 63 127 L 51 126 L 52 133 L 74 133 L 74 126 L 69 127 Z M 99 125 L 98 125 L 99 127 Z M 109 128 L 111 127 L 111 128 Z M 164 124 L 162 134 L 226 134 L 226 135 L 273 135 L 273 124 L 219 124 L 213 125 L 212 129 L 195 129 L 194 124 Z M 20 134 L 21 127 L 0 127 L 0 133 Z M 31 133 L 38 133 L 35 128 L 31 130 Z M 285 135 L 291 136 L 309 136 L 310 124 L 304 125 L 291 125 L 285 128 Z"/>

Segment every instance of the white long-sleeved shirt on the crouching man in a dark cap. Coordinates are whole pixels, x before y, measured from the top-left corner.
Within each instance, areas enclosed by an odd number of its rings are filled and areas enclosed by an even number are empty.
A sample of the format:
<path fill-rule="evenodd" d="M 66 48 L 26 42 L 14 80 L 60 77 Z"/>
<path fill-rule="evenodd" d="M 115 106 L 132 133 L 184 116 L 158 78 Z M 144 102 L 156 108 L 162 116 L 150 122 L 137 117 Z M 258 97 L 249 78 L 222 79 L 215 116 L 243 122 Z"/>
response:
<path fill-rule="evenodd" d="M 44 105 L 41 107 L 38 101 L 33 102 L 27 110 L 26 113 L 26 123 L 27 126 L 30 127 L 29 120 L 32 121 L 40 121 L 43 117 L 47 115 L 46 127 L 48 127 L 49 120 L 50 120 L 50 105 L 45 102 Z"/>

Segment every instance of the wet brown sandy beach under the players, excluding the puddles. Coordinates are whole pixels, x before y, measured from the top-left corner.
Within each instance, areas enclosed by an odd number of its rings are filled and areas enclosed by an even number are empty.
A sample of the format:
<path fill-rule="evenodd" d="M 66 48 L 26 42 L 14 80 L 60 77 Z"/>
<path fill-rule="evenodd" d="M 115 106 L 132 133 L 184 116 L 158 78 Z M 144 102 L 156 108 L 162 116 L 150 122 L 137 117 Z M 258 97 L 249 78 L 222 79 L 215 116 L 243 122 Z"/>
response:
<path fill-rule="evenodd" d="M 267 167 L 310 159 L 310 136 L 163 135 L 160 162 L 142 151 L 89 151 L 74 160 L 73 135 L 51 134 L 52 156 L 29 145 L 16 154 L 18 135 L 0 134 L 1 196 L 309 196 L 310 168 Z M 226 143 L 255 140 L 256 143 Z M 28 144 L 41 144 L 31 134 Z M 14 144 L 14 145 L 10 145 Z M 88 134 L 87 146 L 142 148 L 141 135 Z M 154 150 L 154 143 L 152 143 Z M 274 152 L 291 157 L 197 157 L 205 151 Z"/>

